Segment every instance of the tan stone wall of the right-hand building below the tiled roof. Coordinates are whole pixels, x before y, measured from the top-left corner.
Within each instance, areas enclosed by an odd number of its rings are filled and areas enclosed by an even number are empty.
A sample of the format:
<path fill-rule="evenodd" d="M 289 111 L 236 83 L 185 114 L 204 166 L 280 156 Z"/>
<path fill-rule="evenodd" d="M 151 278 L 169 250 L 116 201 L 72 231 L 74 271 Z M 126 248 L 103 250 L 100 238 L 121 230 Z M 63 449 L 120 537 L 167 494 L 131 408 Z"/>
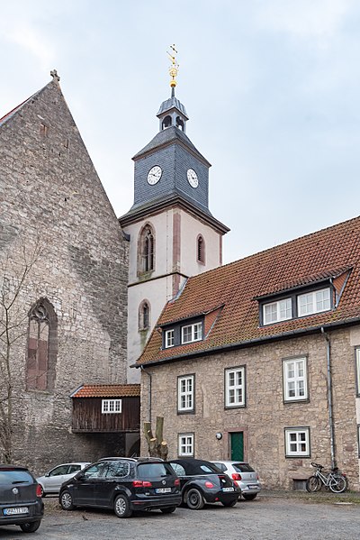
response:
<path fill-rule="evenodd" d="M 349 330 L 330 333 L 335 443 L 338 467 L 347 472 L 350 488 L 359 490 L 356 434 L 356 375 L 354 345 Z M 358 334 L 359 335 L 359 334 Z M 308 402 L 284 403 L 282 361 L 297 355 L 308 358 Z M 246 407 L 224 408 L 224 370 L 246 368 Z M 177 435 L 194 433 L 194 457 L 230 459 L 229 433 L 244 432 L 244 459 L 259 472 L 266 488 L 293 489 L 293 481 L 313 473 L 311 461 L 329 467 L 329 407 L 327 346 L 321 334 L 263 344 L 147 367 L 151 374 L 151 419 L 165 417 L 164 437 L 169 457 L 177 457 Z M 195 412 L 177 414 L 176 378 L 195 373 Z M 141 425 L 148 420 L 149 376 L 141 380 Z M 309 426 L 311 457 L 286 458 L 284 428 Z M 216 433 L 223 434 L 216 439 Z M 142 440 L 142 452 L 146 444 Z"/>

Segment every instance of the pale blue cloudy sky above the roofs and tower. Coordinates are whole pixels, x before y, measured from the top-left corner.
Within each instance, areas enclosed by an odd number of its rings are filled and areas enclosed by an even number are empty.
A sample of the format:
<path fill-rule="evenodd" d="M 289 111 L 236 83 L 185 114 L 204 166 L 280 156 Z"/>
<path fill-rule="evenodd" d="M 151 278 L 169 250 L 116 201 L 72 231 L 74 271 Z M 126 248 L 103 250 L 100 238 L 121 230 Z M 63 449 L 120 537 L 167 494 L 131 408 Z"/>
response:
<path fill-rule="evenodd" d="M 211 162 L 224 261 L 359 215 L 358 0 L 0 1 L 0 116 L 60 85 L 117 215 L 170 95 Z"/>

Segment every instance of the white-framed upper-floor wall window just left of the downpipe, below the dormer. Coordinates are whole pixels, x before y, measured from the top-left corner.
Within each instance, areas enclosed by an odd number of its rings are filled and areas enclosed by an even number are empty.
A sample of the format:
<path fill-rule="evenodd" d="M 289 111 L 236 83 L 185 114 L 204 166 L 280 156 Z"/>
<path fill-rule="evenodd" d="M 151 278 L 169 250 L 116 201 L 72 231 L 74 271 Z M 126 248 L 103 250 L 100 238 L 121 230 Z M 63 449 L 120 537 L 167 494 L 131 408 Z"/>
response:
<path fill-rule="evenodd" d="M 292 358 L 283 361 L 284 401 L 298 401 L 308 398 L 306 358 Z"/>

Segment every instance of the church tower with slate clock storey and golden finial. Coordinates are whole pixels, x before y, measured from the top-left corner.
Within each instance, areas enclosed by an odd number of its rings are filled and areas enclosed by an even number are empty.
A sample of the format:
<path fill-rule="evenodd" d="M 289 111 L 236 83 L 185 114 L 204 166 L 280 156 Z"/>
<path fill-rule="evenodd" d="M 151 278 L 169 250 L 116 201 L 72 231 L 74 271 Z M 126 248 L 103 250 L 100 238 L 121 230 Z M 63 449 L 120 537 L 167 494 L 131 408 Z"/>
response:
<path fill-rule="evenodd" d="M 186 135 L 189 117 L 171 96 L 157 113 L 159 132 L 132 158 L 134 204 L 119 219 L 130 237 L 128 284 L 128 382 L 139 382 L 137 361 L 157 318 L 184 280 L 221 265 L 222 236 L 229 228 L 209 210 L 211 164 Z"/>

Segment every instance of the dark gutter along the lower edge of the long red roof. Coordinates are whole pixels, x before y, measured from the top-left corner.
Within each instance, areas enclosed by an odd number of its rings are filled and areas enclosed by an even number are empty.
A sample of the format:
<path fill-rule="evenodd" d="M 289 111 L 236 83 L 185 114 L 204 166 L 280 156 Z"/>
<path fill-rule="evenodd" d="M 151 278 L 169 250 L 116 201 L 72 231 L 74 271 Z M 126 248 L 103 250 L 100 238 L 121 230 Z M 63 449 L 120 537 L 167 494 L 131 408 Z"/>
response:
<path fill-rule="evenodd" d="M 238 343 L 229 343 L 225 345 L 219 345 L 217 347 L 211 347 L 211 349 L 202 349 L 201 351 L 192 351 L 192 352 L 185 352 L 183 354 L 178 354 L 176 356 L 167 356 L 166 358 L 162 358 L 161 360 L 157 361 L 148 361 L 148 362 L 137 362 L 130 365 L 131 368 L 141 368 L 142 366 L 156 366 L 163 363 L 170 363 L 170 362 L 178 362 L 179 360 L 188 360 L 193 358 L 198 358 L 200 356 L 210 356 L 211 354 L 216 354 L 217 352 L 227 352 L 227 351 L 235 351 L 237 349 L 243 349 L 247 347 L 252 347 L 255 345 L 260 345 L 262 343 L 268 343 L 268 342 L 275 342 L 280 341 L 282 339 L 291 339 L 292 337 L 297 337 L 299 335 L 307 335 L 307 334 L 316 334 L 318 332 L 322 332 L 321 328 L 330 329 L 330 328 L 338 328 L 342 326 L 348 326 L 348 325 L 358 325 L 360 324 L 360 317 L 354 317 L 352 319 L 348 319 L 347 321 L 341 321 L 341 322 L 334 322 L 329 323 L 328 325 L 321 325 L 321 326 L 312 326 L 307 329 L 299 329 L 299 330 L 292 330 L 290 332 L 284 332 L 283 334 L 278 335 L 265 335 L 262 337 L 257 337 L 254 339 L 250 339 L 244 342 L 238 342 Z"/>

